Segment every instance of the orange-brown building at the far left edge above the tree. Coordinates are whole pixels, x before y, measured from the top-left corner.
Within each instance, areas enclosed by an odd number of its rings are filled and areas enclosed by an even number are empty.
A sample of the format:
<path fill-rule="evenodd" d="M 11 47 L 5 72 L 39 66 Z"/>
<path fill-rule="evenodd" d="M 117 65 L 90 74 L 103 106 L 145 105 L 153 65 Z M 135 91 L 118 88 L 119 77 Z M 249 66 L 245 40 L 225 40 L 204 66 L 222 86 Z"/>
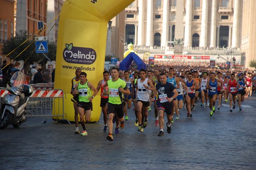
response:
<path fill-rule="evenodd" d="M 0 0 L 0 64 L 3 64 L 3 43 L 14 34 L 14 0 Z"/>

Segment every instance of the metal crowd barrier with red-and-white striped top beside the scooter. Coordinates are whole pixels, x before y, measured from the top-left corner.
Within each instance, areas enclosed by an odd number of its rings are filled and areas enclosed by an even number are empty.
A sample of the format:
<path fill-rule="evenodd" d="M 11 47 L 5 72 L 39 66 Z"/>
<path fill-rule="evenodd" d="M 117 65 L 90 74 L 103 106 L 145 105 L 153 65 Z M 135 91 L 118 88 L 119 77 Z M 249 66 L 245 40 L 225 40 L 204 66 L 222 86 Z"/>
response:
<path fill-rule="evenodd" d="M 9 93 L 6 89 L 0 89 L 1 98 L 6 93 Z M 26 110 L 26 117 L 57 117 L 56 123 L 65 120 L 70 124 L 70 121 L 64 119 L 64 92 L 61 89 L 35 89 L 29 97 Z"/>

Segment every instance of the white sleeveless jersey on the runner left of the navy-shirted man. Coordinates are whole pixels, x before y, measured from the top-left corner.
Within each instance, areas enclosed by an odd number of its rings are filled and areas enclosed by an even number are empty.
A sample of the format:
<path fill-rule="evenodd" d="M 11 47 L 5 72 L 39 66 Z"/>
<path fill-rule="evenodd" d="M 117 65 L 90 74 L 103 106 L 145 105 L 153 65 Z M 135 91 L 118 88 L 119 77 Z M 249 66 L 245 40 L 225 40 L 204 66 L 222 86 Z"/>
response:
<path fill-rule="evenodd" d="M 148 78 L 145 79 L 142 83 L 140 82 L 140 78 L 137 80 L 137 100 L 141 101 L 149 101 L 150 100 L 150 93 L 151 90 L 146 89 L 143 84 L 147 85 L 148 87 Z"/>

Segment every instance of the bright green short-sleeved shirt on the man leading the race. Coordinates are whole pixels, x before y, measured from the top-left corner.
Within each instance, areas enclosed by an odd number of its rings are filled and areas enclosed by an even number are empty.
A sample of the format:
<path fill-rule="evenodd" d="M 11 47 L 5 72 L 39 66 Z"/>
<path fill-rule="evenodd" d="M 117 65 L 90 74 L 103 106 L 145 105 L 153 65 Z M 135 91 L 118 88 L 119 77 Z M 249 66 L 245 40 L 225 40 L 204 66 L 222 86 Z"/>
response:
<path fill-rule="evenodd" d="M 118 78 L 116 81 L 108 81 L 108 102 L 111 104 L 122 104 L 123 93 L 119 91 L 119 87 L 127 89 L 125 81 Z"/>

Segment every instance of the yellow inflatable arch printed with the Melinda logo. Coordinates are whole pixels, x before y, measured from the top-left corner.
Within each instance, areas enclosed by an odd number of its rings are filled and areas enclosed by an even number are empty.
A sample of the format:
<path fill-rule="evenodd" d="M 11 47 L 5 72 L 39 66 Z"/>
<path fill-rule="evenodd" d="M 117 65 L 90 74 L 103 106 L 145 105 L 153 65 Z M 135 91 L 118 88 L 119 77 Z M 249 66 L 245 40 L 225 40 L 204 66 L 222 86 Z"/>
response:
<path fill-rule="evenodd" d="M 63 89 L 64 119 L 74 121 L 71 79 L 78 67 L 96 87 L 103 79 L 108 21 L 134 0 L 65 0 L 59 18 L 55 89 Z M 99 121 L 100 95 L 93 99 L 90 122 Z M 53 115 L 62 112 L 54 106 Z M 54 117 L 53 117 L 54 118 Z M 57 118 L 56 118 L 57 119 Z M 61 119 L 61 118 L 58 118 Z"/>

